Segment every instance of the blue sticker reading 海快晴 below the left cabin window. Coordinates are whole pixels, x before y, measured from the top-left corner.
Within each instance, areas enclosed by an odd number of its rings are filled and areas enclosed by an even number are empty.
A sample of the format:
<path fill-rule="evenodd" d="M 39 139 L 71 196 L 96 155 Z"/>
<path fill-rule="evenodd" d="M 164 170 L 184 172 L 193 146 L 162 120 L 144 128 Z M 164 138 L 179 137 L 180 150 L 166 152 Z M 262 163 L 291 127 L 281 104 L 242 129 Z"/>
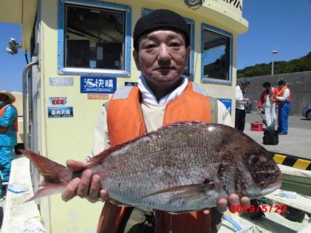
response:
<path fill-rule="evenodd" d="M 106 77 L 81 77 L 80 92 L 90 94 L 113 94 L 117 90 L 117 79 Z"/>

